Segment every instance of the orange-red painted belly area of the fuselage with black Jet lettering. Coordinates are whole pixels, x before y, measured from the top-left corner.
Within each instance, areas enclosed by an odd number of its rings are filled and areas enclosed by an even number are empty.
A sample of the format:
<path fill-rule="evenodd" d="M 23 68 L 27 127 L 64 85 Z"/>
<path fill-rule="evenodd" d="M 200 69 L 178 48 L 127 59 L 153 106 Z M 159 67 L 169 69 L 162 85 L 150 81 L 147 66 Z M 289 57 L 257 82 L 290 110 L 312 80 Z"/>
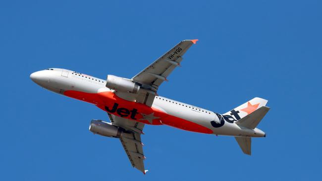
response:
<path fill-rule="evenodd" d="M 145 104 L 132 102 L 118 97 L 115 93 L 110 91 L 100 93 L 87 93 L 75 90 L 66 90 L 64 95 L 75 99 L 83 100 L 93 103 L 100 109 L 130 120 L 135 120 L 145 124 L 151 124 L 148 120 L 143 120 L 142 114 L 149 115 L 154 113 L 156 119 L 153 120 L 152 125 L 168 125 L 182 130 L 191 132 L 212 134 L 213 131 L 209 128 L 196 124 L 194 122 L 169 115 L 157 108 L 149 107 Z M 116 103 L 116 104 L 115 104 Z M 106 108 L 109 110 L 107 111 Z M 142 114 L 141 114 L 142 113 Z M 133 119 L 134 118 L 134 119 Z"/>

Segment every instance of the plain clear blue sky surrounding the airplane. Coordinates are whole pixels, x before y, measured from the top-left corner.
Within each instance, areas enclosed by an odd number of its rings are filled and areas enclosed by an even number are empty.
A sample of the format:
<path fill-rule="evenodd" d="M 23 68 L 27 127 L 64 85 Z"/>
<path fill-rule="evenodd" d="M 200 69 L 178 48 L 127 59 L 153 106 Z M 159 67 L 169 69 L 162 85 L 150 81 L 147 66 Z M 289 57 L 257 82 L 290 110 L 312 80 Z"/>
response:
<path fill-rule="evenodd" d="M 319 0 L 0 2 L 0 180 L 318 180 L 322 177 Z M 49 67 L 131 78 L 199 39 L 159 94 L 224 113 L 260 96 L 271 110 L 252 156 L 233 137 L 146 126 L 149 173 L 93 135 L 94 105 L 34 84 Z"/>

